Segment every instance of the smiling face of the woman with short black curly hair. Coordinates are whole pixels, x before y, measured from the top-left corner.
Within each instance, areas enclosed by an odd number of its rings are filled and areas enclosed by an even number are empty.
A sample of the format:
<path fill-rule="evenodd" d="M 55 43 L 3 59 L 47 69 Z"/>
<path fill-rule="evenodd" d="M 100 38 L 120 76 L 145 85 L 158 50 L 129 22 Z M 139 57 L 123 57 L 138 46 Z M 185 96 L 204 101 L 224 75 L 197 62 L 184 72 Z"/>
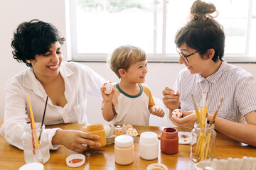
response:
<path fill-rule="evenodd" d="M 45 54 L 35 55 L 35 60 L 32 60 L 31 64 L 36 78 L 41 81 L 50 77 L 57 77 L 62 60 L 59 42 L 53 43 Z"/>

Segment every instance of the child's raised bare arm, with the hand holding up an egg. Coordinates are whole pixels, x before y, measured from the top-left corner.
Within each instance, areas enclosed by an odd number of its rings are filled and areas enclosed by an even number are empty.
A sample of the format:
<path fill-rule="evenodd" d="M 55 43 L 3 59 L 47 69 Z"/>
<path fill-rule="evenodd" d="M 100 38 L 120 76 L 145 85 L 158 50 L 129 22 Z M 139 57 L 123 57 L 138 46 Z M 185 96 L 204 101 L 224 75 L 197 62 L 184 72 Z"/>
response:
<path fill-rule="evenodd" d="M 116 114 L 114 111 L 114 106 L 112 106 L 112 98 L 114 96 L 114 89 L 112 89 L 111 94 L 105 94 L 105 86 L 102 86 L 102 115 L 105 120 L 110 122 L 113 120 L 114 115 Z"/>

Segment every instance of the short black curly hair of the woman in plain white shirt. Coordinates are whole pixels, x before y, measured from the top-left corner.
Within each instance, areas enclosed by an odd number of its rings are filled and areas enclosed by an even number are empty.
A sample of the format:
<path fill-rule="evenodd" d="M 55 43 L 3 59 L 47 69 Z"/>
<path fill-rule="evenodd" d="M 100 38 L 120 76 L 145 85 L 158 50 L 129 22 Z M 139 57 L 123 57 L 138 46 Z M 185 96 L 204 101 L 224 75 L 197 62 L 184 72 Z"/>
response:
<path fill-rule="evenodd" d="M 12 54 L 18 62 L 24 62 L 28 67 L 32 67 L 26 60 L 34 60 L 35 55 L 48 52 L 54 42 L 63 45 L 65 38 L 60 38 L 58 30 L 50 23 L 45 23 L 37 19 L 21 23 L 14 31 L 14 38 L 11 47 Z"/>

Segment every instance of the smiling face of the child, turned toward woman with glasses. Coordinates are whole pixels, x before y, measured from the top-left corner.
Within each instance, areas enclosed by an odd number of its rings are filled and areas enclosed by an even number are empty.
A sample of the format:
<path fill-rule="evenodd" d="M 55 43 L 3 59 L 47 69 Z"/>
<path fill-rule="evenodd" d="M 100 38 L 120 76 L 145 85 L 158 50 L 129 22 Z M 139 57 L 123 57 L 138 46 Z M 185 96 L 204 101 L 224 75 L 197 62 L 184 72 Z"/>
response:
<path fill-rule="evenodd" d="M 142 62 L 135 62 L 129 67 L 129 69 L 127 69 L 126 79 L 134 83 L 144 83 L 147 72 L 148 68 L 146 60 Z"/>

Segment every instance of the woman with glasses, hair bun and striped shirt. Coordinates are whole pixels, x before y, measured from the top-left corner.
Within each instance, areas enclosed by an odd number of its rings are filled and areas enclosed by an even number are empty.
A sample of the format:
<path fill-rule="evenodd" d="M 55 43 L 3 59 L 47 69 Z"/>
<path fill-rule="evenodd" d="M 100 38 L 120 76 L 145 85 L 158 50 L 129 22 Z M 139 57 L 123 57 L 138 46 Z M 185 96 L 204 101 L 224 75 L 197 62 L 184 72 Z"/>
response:
<path fill-rule="evenodd" d="M 175 125 L 193 128 L 197 118 L 191 94 L 199 106 L 202 91 L 208 92 L 209 121 L 223 97 L 215 129 L 256 147 L 256 79 L 223 60 L 225 34 L 215 16 L 214 4 L 197 0 L 191 6 L 190 20 L 175 37 L 178 63 L 186 68 L 178 74 L 174 89 L 164 89 L 163 101 L 170 116 L 176 108 L 183 111 L 184 118 L 170 118 Z"/>

